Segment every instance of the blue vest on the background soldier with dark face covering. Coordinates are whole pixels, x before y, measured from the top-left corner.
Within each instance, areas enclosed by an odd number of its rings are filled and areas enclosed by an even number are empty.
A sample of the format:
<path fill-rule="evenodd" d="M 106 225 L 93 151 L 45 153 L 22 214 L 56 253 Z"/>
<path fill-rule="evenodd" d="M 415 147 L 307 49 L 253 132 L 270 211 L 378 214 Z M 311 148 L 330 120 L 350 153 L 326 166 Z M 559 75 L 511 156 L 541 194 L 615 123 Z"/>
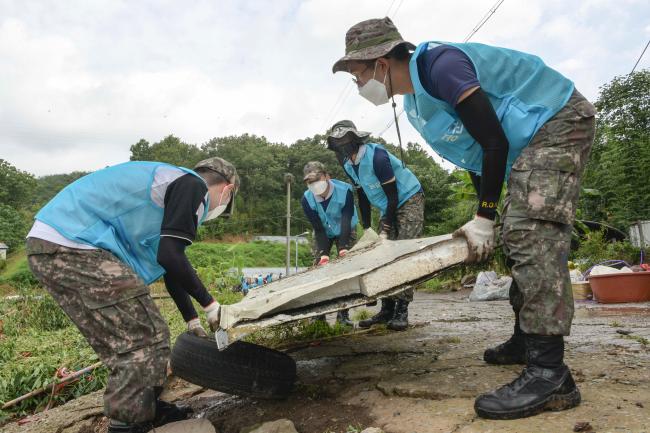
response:
<path fill-rule="evenodd" d="M 354 167 L 352 167 L 352 162 L 350 160 L 347 160 L 345 162 L 343 168 L 354 180 L 354 182 L 363 188 L 363 192 L 366 193 L 370 204 L 379 209 L 379 212 L 383 217 L 386 213 L 388 199 L 386 198 L 386 194 L 381 187 L 381 182 L 375 175 L 375 167 L 373 165 L 373 161 L 375 158 L 375 149 L 384 149 L 384 147 L 381 144 L 377 143 L 366 143 L 365 146 L 365 153 L 359 162 L 359 174 L 357 175 L 357 173 L 354 171 Z M 388 153 L 390 165 L 393 168 L 393 172 L 395 173 L 395 181 L 397 182 L 398 206 L 401 206 L 404 204 L 404 202 L 406 202 L 406 200 L 413 197 L 413 195 L 419 192 L 422 189 L 422 186 L 420 185 L 420 181 L 417 177 L 415 177 L 413 172 L 404 167 L 402 161 L 397 159 L 392 153 L 388 151 L 386 153 Z"/>

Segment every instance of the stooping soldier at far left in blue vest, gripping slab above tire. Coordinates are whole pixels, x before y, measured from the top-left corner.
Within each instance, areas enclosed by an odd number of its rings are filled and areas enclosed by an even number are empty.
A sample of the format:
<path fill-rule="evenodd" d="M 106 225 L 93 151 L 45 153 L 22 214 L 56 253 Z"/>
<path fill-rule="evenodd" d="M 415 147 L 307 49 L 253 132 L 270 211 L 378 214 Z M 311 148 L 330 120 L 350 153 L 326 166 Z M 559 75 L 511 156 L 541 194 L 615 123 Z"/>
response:
<path fill-rule="evenodd" d="M 201 223 L 231 213 L 238 188 L 235 167 L 221 158 L 194 170 L 134 161 L 78 179 L 36 214 L 29 266 L 110 370 L 109 433 L 148 432 L 188 416 L 159 399 L 169 328 L 147 285 L 164 277 L 190 332 L 207 337 L 190 297 L 218 328 L 219 304 L 185 248 Z"/>

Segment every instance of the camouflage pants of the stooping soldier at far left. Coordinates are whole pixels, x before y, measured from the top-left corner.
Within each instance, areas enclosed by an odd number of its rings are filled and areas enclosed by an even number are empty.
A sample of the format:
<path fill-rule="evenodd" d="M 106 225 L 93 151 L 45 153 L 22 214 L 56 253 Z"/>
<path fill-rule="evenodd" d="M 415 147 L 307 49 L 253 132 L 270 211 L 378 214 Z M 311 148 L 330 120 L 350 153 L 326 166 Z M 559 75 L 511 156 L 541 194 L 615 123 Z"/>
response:
<path fill-rule="evenodd" d="M 169 329 L 144 282 L 105 250 L 27 239 L 29 266 L 77 325 L 110 374 L 106 416 L 154 418 L 169 359 Z"/>

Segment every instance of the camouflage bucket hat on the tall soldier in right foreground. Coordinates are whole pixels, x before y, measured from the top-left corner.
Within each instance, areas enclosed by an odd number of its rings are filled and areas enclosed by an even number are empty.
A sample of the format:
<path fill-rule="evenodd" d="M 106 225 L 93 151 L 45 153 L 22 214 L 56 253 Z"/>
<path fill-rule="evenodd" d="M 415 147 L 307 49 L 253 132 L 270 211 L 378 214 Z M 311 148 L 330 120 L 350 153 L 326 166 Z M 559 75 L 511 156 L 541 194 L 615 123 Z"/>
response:
<path fill-rule="evenodd" d="M 361 21 L 345 34 L 345 56 L 334 63 L 332 72 L 346 71 L 350 60 L 374 60 L 385 56 L 402 44 L 415 49 L 415 45 L 402 39 L 390 18 Z"/>

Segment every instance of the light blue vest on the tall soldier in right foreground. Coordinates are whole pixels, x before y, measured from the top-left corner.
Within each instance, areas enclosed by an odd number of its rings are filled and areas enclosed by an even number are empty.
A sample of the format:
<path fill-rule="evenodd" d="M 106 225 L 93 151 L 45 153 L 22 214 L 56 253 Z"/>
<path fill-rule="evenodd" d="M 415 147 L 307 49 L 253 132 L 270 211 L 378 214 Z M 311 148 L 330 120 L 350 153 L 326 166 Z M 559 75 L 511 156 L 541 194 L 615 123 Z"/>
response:
<path fill-rule="evenodd" d="M 409 121 L 442 158 L 481 173 L 483 150 L 464 128 L 454 108 L 429 95 L 418 74 L 417 58 L 439 45 L 463 51 L 476 69 L 485 92 L 501 121 L 510 145 L 506 173 L 521 150 L 544 123 L 567 103 L 573 82 L 532 54 L 489 45 L 424 42 L 411 57 L 409 70 L 414 94 L 404 96 Z"/>

